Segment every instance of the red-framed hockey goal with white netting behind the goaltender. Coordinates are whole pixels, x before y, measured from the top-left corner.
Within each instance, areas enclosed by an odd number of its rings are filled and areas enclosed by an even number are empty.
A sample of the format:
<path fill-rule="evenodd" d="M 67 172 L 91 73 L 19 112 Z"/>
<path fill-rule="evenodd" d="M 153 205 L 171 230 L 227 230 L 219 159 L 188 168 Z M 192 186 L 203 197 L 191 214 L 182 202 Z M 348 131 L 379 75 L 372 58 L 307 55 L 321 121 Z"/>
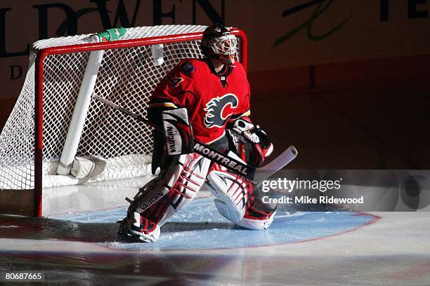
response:
<path fill-rule="evenodd" d="M 85 34 L 34 43 L 24 86 L 0 135 L 0 213 L 41 217 L 43 188 L 82 182 L 56 175 L 56 170 L 91 52 L 104 50 L 91 93 L 146 116 L 159 80 L 184 58 L 203 57 L 205 28 L 134 27 L 115 41 L 91 43 L 93 34 Z M 237 59 L 246 71 L 246 35 L 240 29 L 231 31 L 239 39 Z M 130 116 L 91 100 L 74 156 L 97 158 L 104 169 L 85 182 L 148 174 L 151 132 Z"/>

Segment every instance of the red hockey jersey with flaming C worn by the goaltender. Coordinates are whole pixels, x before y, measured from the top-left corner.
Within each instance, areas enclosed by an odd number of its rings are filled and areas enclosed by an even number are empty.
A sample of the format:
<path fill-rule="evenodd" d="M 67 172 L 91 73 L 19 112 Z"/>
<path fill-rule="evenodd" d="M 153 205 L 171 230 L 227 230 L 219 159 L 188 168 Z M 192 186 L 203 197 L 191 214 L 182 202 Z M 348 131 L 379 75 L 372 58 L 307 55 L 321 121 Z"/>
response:
<path fill-rule="evenodd" d="M 185 59 L 162 79 L 149 108 L 185 107 L 196 139 L 210 144 L 229 120 L 249 116 L 249 83 L 242 64 L 215 74 L 207 60 Z"/>

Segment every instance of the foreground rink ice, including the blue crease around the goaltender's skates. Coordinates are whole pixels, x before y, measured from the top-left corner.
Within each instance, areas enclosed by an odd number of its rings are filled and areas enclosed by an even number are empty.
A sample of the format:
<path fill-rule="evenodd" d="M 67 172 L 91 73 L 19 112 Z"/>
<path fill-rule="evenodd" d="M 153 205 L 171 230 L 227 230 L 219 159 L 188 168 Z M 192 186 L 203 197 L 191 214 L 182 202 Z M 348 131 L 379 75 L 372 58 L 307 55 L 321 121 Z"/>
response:
<path fill-rule="evenodd" d="M 429 212 L 288 211 L 247 231 L 202 198 L 152 244 L 117 239 L 124 207 L 0 216 L 0 271 L 41 271 L 51 285 L 429 285 Z"/>

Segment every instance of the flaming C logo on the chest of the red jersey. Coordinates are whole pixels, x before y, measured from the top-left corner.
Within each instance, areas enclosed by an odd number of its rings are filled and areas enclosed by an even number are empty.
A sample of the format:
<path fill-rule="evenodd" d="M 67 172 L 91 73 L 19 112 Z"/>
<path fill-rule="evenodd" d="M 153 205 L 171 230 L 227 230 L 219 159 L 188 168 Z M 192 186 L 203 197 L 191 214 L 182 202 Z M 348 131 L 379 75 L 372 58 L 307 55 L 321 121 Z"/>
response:
<path fill-rule="evenodd" d="M 207 102 L 206 114 L 204 114 L 204 125 L 207 128 L 223 127 L 228 117 L 233 114 L 239 100 L 233 93 L 227 93 L 221 97 L 215 97 Z"/>

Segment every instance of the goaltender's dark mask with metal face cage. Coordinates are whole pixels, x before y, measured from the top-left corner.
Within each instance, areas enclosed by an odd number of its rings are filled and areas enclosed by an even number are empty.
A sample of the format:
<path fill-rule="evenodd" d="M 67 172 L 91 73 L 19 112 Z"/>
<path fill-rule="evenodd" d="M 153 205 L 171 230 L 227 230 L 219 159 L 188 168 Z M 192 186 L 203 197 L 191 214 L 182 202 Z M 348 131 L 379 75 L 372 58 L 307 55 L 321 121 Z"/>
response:
<path fill-rule="evenodd" d="M 234 66 L 237 49 L 237 39 L 223 25 L 215 24 L 203 32 L 202 53 L 212 57 L 223 64 Z"/>

